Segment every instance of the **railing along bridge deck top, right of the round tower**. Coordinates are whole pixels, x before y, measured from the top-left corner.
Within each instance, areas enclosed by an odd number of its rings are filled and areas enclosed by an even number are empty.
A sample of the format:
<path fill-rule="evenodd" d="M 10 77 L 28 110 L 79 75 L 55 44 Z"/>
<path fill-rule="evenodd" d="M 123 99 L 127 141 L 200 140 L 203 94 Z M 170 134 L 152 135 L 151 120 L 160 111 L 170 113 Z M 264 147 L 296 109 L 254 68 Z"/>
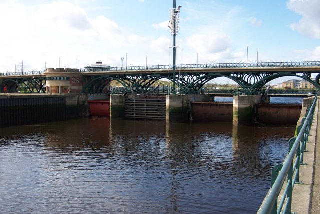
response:
<path fill-rule="evenodd" d="M 205 63 L 205 64 L 179 64 L 176 69 L 199 68 L 263 68 L 263 67 L 309 67 L 320 66 L 320 61 L 306 62 L 260 62 L 260 63 Z M 80 69 L 80 72 L 98 71 L 135 71 L 135 70 L 172 70 L 173 65 L 148 65 L 148 66 L 119 66 L 101 69 Z"/>

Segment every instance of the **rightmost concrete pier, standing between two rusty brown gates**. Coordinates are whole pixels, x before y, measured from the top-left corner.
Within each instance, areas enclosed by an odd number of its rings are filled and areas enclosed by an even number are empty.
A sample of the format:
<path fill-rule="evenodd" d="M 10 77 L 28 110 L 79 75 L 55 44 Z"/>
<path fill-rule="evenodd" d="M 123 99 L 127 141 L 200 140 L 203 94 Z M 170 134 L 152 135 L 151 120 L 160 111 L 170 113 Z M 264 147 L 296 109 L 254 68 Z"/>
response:
<path fill-rule="evenodd" d="M 255 104 L 261 102 L 261 95 L 233 97 L 233 125 L 250 125 L 255 119 Z"/>

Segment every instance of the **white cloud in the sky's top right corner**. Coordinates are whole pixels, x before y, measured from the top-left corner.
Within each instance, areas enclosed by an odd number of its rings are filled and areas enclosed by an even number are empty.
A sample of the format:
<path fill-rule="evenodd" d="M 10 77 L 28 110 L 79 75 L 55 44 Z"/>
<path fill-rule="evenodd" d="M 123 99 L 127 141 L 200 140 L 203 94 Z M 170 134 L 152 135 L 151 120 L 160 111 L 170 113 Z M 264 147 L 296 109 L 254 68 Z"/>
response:
<path fill-rule="evenodd" d="M 320 4 L 318 0 L 289 0 L 287 7 L 302 16 L 298 23 L 291 24 L 294 31 L 320 39 Z"/>

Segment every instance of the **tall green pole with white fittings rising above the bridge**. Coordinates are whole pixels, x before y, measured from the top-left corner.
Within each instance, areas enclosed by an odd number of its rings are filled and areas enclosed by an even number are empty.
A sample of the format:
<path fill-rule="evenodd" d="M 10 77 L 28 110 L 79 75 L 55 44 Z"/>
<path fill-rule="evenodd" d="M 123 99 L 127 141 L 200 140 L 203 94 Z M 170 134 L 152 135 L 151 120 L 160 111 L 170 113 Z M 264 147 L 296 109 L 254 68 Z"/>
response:
<path fill-rule="evenodd" d="M 170 28 L 171 28 L 171 35 L 173 35 L 173 94 L 175 94 L 175 58 L 176 58 L 176 47 L 175 47 L 175 36 L 178 33 L 179 28 L 179 12 L 180 8 L 182 6 L 179 6 L 176 9 L 175 0 L 173 0 L 173 8 L 169 10 L 170 14 Z"/>

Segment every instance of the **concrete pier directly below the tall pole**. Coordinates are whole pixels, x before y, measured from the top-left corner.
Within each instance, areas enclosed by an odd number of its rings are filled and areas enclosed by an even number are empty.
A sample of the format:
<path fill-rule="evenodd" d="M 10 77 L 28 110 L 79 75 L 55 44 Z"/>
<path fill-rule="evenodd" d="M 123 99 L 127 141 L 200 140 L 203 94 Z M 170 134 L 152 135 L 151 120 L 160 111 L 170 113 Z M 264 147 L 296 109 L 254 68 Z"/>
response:
<path fill-rule="evenodd" d="M 182 122 L 190 120 L 190 106 L 187 95 L 166 95 L 166 121 Z"/>

